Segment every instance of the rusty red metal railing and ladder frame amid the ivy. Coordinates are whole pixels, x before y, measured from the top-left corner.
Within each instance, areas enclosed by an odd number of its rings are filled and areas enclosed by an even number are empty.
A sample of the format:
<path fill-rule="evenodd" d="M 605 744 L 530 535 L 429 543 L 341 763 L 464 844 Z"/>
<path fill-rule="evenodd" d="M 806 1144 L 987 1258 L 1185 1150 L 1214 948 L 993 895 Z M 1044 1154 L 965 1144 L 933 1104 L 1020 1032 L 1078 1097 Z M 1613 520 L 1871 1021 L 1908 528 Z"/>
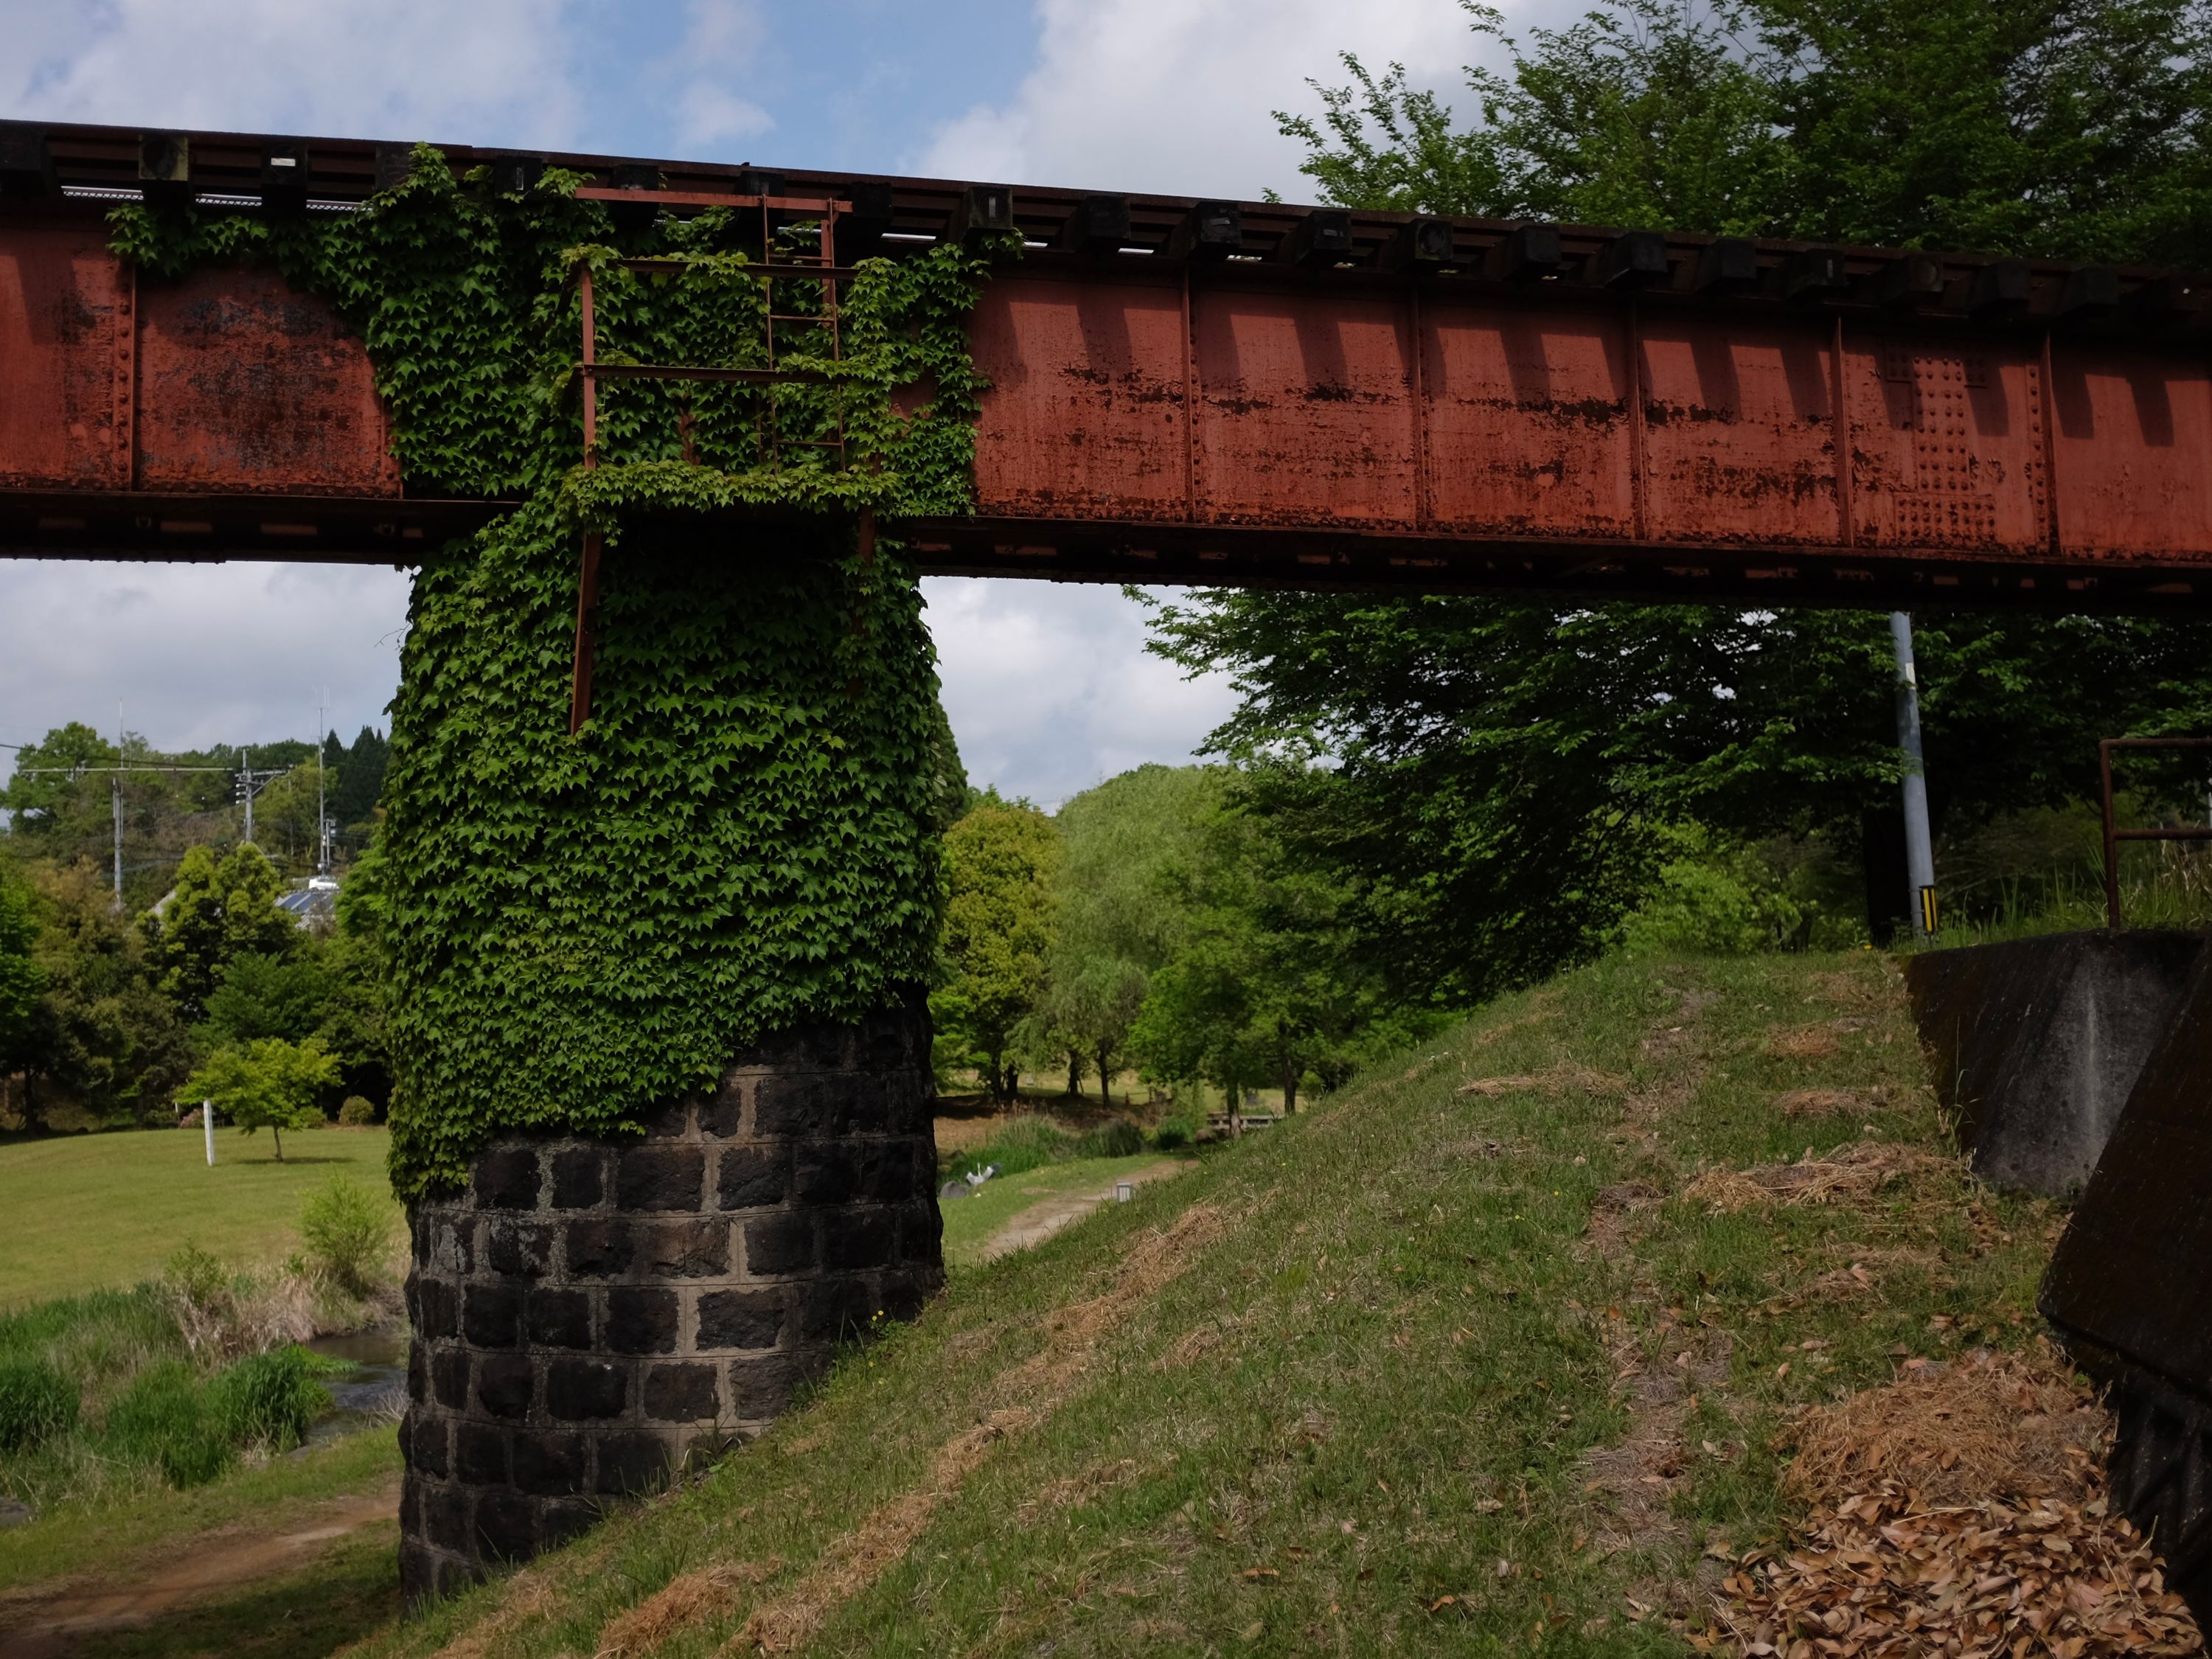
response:
<path fill-rule="evenodd" d="M 845 334 L 843 319 L 838 314 L 838 283 L 847 281 L 856 272 L 836 263 L 836 221 L 841 212 L 852 212 L 849 201 L 838 201 L 834 197 L 739 197 L 739 195 L 708 195 L 708 192 L 677 192 L 677 190 L 599 190 L 584 188 L 575 192 L 582 201 L 624 201 L 637 204 L 639 199 L 655 206 L 672 208 L 757 208 L 761 215 L 761 263 L 748 265 L 743 276 L 757 279 L 765 294 L 763 312 L 763 347 L 768 367 L 761 369 L 732 369 L 701 363 L 599 363 L 599 334 L 597 319 L 593 314 L 593 279 L 591 265 L 577 270 L 580 299 L 584 312 L 584 358 L 580 374 L 584 380 L 584 467 L 593 469 L 599 465 L 599 383 L 602 380 L 714 380 L 726 385 L 752 385 L 761 387 L 761 407 L 754 411 L 754 431 L 759 440 L 759 451 L 770 462 L 770 471 L 783 469 L 783 436 L 776 422 L 776 387 L 783 385 L 830 385 L 836 389 L 834 411 L 836 411 L 836 436 L 832 438 L 794 438 L 792 447 L 799 449 L 832 449 L 836 451 L 836 465 L 843 467 L 845 456 L 845 392 L 843 385 L 832 374 L 821 369 L 783 369 L 776 367 L 776 323 L 805 323 L 807 327 L 827 327 L 830 332 L 830 361 L 845 361 Z M 803 219 L 816 219 L 821 226 L 821 252 L 814 259 L 790 259 L 779 263 L 776 259 L 776 215 L 796 215 Z M 692 263 L 686 259 L 619 259 L 615 261 L 619 270 L 637 272 L 684 272 Z M 776 283 L 821 283 L 821 312 L 779 312 L 776 310 Z M 677 434 L 684 445 L 684 460 L 697 465 L 699 456 L 692 447 L 692 416 L 690 409 L 677 418 Z M 872 538 L 874 524 L 863 524 L 863 542 Z M 597 619 L 599 619 L 599 555 L 604 553 L 604 540 L 597 531 L 584 533 L 582 564 L 577 571 L 575 588 L 575 655 L 568 675 L 568 734 L 575 737 L 584 721 L 591 719 L 591 661 L 597 648 Z"/>

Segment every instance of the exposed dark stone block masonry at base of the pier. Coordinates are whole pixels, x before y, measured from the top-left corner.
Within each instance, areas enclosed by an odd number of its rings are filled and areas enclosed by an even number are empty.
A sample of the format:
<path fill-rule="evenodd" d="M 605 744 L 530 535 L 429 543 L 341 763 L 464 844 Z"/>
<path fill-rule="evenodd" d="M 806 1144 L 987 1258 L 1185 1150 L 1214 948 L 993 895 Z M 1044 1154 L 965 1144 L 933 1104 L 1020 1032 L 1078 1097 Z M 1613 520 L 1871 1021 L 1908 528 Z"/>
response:
<path fill-rule="evenodd" d="M 409 1217 L 400 1582 L 469 1584 L 765 1429 L 945 1281 L 929 1018 L 814 1026 L 644 1135 L 509 1137 Z"/>

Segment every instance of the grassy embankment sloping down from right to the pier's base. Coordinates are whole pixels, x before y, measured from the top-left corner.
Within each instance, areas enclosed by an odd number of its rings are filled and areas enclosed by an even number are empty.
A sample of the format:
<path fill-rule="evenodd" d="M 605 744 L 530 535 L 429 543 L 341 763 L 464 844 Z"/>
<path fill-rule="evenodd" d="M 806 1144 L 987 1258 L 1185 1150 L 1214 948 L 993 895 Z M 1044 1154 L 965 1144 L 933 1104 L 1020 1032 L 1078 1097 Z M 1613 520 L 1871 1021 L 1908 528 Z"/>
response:
<path fill-rule="evenodd" d="M 1849 1144 L 1825 1203 L 1712 1175 Z M 2055 1225 L 1947 1155 L 1885 960 L 1608 960 L 365 1652 L 1681 1652 L 1794 1520 L 1792 1413 L 2028 1343 Z"/>

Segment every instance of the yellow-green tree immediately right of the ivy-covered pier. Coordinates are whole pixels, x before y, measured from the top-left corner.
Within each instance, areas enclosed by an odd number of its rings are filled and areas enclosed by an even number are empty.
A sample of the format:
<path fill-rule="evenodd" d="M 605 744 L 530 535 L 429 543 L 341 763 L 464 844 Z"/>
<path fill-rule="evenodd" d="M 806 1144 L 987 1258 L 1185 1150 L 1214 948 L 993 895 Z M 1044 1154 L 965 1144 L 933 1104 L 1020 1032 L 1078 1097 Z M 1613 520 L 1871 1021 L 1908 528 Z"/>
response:
<path fill-rule="evenodd" d="M 1015 1033 L 1044 987 L 1060 832 L 1031 805 L 995 799 L 945 836 L 945 982 L 931 1015 L 982 1064 L 993 1099 L 1013 1099 Z"/>

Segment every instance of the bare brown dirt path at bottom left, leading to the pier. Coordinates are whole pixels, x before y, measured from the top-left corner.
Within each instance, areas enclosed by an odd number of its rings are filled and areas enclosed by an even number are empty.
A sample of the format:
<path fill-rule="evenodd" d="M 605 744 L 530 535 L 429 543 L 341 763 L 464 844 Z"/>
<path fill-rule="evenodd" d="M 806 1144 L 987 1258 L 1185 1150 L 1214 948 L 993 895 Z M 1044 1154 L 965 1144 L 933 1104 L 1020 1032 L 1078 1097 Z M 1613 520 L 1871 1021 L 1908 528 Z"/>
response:
<path fill-rule="evenodd" d="M 77 1637 L 153 1624 L 223 1590 L 283 1577 L 314 1559 L 319 1546 L 347 1533 L 396 1520 L 398 1482 L 345 1498 L 303 1517 L 285 1533 L 212 1533 L 173 1544 L 144 1573 L 113 1579 L 66 1582 L 55 1590 L 0 1595 L 0 1659 L 62 1659 Z"/>

